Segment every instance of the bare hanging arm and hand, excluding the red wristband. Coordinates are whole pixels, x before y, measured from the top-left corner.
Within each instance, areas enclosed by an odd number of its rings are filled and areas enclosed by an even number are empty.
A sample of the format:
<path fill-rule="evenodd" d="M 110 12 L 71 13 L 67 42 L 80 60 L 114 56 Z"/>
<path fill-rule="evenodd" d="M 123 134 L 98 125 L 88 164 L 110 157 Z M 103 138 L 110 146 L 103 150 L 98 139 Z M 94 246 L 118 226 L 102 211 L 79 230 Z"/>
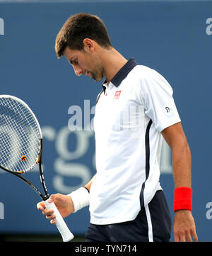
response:
<path fill-rule="evenodd" d="M 175 188 L 192 187 L 192 157 L 181 123 L 165 128 L 163 138 L 172 150 L 172 167 Z M 178 210 L 174 218 L 175 241 L 197 241 L 196 227 L 192 212 Z"/>

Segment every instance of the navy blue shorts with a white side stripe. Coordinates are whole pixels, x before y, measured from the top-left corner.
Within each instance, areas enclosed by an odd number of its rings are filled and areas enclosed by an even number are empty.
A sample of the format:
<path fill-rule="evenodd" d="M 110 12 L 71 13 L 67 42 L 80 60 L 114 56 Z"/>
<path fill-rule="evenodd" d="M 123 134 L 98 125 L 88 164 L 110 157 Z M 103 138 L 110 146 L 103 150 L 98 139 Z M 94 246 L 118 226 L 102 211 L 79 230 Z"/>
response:
<path fill-rule="evenodd" d="M 86 242 L 169 242 L 172 228 L 170 211 L 162 190 L 143 207 L 134 221 L 110 225 L 90 224 Z"/>

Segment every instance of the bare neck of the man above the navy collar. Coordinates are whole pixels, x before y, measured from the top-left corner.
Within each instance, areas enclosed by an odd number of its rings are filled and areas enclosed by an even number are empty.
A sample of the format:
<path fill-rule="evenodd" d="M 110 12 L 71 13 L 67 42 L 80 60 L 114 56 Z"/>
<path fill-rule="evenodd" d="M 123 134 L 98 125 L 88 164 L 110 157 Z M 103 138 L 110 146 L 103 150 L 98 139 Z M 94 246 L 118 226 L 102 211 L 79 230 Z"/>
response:
<path fill-rule="evenodd" d="M 126 64 L 127 60 L 114 48 L 110 48 L 110 50 L 103 49 L 100 56 L 103 67 L 102 75 L 109 84 L 119 69 Z"/>

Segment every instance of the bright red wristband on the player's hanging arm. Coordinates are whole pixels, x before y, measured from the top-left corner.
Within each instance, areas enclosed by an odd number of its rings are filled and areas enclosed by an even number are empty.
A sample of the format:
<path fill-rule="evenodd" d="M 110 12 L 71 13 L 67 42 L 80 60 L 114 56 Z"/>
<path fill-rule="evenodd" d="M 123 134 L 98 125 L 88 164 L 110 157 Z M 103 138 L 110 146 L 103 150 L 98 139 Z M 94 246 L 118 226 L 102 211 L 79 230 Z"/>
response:
<path fill-rule="evenodd" d="M 175 189 L 174 211 L 192 211 L 192 189 L 189 187 L 177 187 Z"/>

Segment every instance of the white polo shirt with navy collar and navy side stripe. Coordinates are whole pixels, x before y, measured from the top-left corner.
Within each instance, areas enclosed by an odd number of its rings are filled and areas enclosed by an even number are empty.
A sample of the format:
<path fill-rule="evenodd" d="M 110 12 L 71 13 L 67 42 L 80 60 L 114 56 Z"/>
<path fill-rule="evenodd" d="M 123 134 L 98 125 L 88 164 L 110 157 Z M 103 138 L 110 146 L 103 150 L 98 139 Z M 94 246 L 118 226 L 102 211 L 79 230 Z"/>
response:
<path fill-rule="evenodd" d="M 161 131 L 180 122 L 172 88 L 155 70 L 130 59 L 103 84 L 95 108 L 96 179 L 90 223 L 131 221 L 161 189 Z"/>

